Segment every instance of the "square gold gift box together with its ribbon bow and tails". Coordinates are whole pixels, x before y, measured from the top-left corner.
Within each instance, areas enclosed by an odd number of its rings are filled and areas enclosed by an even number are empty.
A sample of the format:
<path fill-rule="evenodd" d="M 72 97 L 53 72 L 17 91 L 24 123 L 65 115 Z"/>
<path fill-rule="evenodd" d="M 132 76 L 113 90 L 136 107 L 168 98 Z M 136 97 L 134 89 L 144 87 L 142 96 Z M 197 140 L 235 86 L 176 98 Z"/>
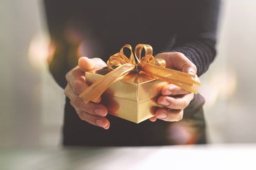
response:
<path fill-rule="evenodd" d="M 129 58 L 124 55 L 124 48 L 131 51 Z M 166 84 L 198 93 L 199 79 L 196 81 L 193 74 L 165 68 L 165 60 L 155 59 L 150 45 L 137 45 L 134 54 L 131 45 L 124 45 L 120 52 L 110 57 L 107 67 L 85 72 L 90 87 L 80 94 L 80 98 L 88 103 L 102 96 L 108 113 L 140 123 L 153 117 L 156 108 L 161 107 L 156 101 Z"/>

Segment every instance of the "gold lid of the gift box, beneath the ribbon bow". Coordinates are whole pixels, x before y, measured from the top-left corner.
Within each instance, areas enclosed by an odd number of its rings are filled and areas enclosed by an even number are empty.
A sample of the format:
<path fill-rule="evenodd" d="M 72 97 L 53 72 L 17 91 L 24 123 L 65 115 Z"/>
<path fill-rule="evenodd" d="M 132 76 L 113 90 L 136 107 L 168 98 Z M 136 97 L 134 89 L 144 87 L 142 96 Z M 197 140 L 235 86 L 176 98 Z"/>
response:
<path fill-rule="evenodd" d="M 103 69 L 92 69 L 85 72 L 87 84 L 92 84 L 110 72 L 107 67 Z M 129 101 L 144 101 L 161 94 L 161 89 L 168 84 L 165 81 L 150 77 L 144 72 L 131 72 L 121 80 L 115 81 L 105 91 L 105 94 L 124 98 Z"/>

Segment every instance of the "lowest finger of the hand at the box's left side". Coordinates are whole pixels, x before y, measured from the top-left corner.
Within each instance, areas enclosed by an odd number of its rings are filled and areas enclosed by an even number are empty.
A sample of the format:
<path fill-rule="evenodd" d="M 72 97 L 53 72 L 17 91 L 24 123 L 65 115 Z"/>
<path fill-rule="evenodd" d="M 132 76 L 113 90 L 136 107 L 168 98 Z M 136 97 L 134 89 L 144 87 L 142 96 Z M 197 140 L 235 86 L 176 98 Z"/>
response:
<path fill-rule="evenodd" d="M 92 125 L 97 125 L 99 127 L 104 128 L 107 130 L 110 128 L 110 121 L 107 120 L 107 118 L 102 118 L 97 115 L 91 115 L 89 113 L 86 113 L 84 111 L 77 110 L 78 116 L 81 120 L 85 120 L 87 123 L 90 123 Z"/>

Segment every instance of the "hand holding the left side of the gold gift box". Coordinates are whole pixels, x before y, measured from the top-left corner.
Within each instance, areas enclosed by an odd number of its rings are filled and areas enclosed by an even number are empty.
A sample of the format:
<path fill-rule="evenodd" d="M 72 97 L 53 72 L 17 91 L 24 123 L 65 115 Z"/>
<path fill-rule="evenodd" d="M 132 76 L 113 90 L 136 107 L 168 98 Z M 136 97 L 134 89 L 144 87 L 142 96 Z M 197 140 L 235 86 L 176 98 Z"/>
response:
<path fill-rule="evenodd" d="M 70 98 L 70 104 L 75 108 L 81 120 L 85 120 L 92 125 L 100 126 L 105 130 L 110 128 L 110 121 L 105 118 L 107 108 L 100 104 L 100 98 L 96 103 L 90 101 L 85 104 L 79 95 L 88 87 L 85 81 L 85 72 L 90 69 L 106 66 L 107 64 L 100 58 L 89 59 L 87 57 L 81 57 L 78 61 L 78 67 L 75 67 L 66 74 L 65 77 L 68 81 L 68 85 L 64 90 L 65 96 Z"/>

